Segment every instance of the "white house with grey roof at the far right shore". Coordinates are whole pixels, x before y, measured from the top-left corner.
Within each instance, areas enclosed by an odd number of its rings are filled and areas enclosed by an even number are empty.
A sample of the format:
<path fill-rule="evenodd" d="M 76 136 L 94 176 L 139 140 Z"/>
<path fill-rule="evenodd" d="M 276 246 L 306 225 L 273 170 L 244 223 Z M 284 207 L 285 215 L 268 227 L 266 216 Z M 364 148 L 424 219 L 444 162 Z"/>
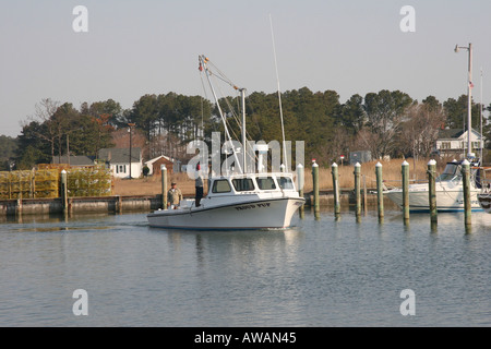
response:
<path fill-rule="evenodd" d="M 472 153 L 479 156 L 479 152 L 484 146 L 484 139 L 476 130 L 471 129 L 470 142 Z M 435 143 L 435 153 L 440 156 L 458 156 L 467 154 L 467 130 L 446 129 L 440 130 Z"/>

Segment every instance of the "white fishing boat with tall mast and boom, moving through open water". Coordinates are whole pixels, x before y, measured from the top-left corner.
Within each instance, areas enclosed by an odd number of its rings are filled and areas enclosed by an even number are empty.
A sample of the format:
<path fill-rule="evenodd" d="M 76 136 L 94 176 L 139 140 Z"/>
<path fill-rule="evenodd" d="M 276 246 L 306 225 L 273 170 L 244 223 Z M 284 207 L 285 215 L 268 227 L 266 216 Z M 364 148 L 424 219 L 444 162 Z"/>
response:
<path fill-rule="evenodd" d="M 226 137 L 231 142 L 226 118 L 219 107 L 218 98 L 209 80 L 212 72 L 208 59 L 200 56 L 200 71 L 206 73 L 217 109 L 220 113 Z M 242 97 L 242 144 L 246 143 L 244 89 L 237 88 Z M 283 118 L 282 118 L 283 129 Z M 285 144 L 284 144 L 285 145 Z M 242 148 L 242 163 L 236 148 L 231 148 L 239 172 L 226 170 L 226 173 L 207 179 L 208 191 L 201 200 L 200 206 L 188 200 L 181 202 L 177 209 L 158 209 L 147 215 L 148 225 L 159 228 L 180 229 L 283 229 L 291 225 L 291 218 L 306 200 L 300 197 L 295 185 L 295 178 L 289 172 L 264 172 L 260 164 L 254 171 L 246 169 L 246 149 Z M 285 149 L 285 147 L 284 147 Z M 286 159 L 286 156 L 284 157 Z M 207 160 L 207 159 L 206 159 Z M 205 166 L 204 168 L 207 168 Z M 288 167 L 285 167 L 288 168 Z"/>

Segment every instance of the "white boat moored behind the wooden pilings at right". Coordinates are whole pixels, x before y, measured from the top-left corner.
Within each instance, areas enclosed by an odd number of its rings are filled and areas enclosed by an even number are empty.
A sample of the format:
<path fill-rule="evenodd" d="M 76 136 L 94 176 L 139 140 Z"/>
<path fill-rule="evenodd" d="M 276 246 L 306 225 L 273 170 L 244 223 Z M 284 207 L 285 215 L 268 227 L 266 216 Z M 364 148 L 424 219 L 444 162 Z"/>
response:
<path fill-rule="evenodd" d="M 477 164 L 475 164 L 477 165 Z M 472 210 L 482 210 L 479 205 L 478 194 L 481 193 L 480 168 L 471 167 L 470 180 L 470 203 Z M 410 184 L 409 192 L 409 210 L 411 212 L 429 212 L 429 186 L 428 183 Z M 462 161 L 454 160 L 447 163 L 445 170 L 435 180 L 436 209 L 440 212 L 458 212 L 464 210 L 464 189 L 462 176 Z M 403 207 L 403 189 L 395 188 L 384 191 L 384 194 Z"/>

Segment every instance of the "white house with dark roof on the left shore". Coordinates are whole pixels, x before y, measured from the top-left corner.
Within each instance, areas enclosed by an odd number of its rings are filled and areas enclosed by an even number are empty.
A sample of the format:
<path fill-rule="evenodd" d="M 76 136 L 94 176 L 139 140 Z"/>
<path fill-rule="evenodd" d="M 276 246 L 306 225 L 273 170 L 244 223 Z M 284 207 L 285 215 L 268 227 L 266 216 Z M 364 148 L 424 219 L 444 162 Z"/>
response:
<path fill-rule="evenodd" d="M 142 176 L 142 149 L 139 147 L 133 147 L 131 149 L 104 148 L 99 151 L 98 158 L 108 164 L 112 176 L 117 178 L 130 178 L 130 173 L 131 178 L 140 178 L 140 176 Z"/>

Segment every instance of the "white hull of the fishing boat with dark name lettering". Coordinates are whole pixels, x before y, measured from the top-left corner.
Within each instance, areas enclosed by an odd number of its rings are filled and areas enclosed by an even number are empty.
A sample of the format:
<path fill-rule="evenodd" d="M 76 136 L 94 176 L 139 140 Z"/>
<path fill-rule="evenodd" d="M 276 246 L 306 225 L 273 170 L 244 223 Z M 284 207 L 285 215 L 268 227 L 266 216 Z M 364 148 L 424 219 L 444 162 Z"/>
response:
<path fill-rule="evenodd" d="M 282 197 L 204 208 L 166 209 L 147 215 L 147 219 L 148 225 L 155 228 L 282 229 L 290 226 L 294 214 L 303 203 L 302 197 Z"/>

